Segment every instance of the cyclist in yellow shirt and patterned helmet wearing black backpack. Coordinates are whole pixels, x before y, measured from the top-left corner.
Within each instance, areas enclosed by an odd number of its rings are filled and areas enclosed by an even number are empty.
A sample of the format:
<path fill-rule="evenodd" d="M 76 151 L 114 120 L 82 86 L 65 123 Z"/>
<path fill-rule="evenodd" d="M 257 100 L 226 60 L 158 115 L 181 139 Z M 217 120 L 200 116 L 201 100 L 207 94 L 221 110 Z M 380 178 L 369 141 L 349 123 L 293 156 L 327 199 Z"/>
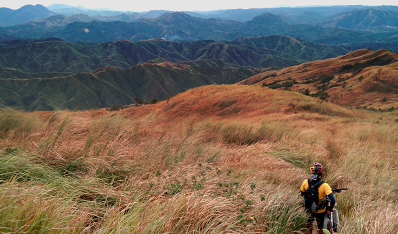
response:
<path fill-rule="evenodd" d="M 313 163 L 311 164 L 309 170 L 311 171 L 311 178 L 310 179 L 305 179 L 300 187 L 301 190 L 301 196 L 305 195 L 305 191 L 307 190 L 308 186 L 314 186 L 316 183 L 321 181 L 322 178 L 322 171 L 323 171 L 323 166 L 320 163 Z M 310 184 L 308 184 L 310 182 Z M 330 204 L 330 210 L 333 209 L 334 204 L 336 203 L 336 200 L 334 199 L 332 189 L 330 188 L 329 184 L 325 182 L 320 182 L 320 185 L 318 187 L 318 205 L 320 204 L 320 200 L 328 196 L 331 200 Z M 311 212 L 310 210 L 307 210 L 307 212 L 310 214 L 306 228 L 308 229 L 308 233 L 312 234 L 312 229 L 313 229 L 313 222 L 314 219 L 318 224 L 318 234 L 323 234 L 323 219 L 326 214 L 326 208 L 317 210 L 315 212 Z"/>

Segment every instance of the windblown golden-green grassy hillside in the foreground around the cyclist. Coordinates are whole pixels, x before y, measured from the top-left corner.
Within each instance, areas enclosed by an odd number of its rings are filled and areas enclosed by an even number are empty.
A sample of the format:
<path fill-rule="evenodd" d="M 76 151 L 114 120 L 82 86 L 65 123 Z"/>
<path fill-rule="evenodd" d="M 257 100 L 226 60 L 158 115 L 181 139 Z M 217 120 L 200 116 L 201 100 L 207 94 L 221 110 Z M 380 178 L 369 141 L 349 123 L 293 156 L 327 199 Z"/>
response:
<path fill-rule="evenodd" d="M 320 162 L 350 187 L 342 233 L 395 233 L 396 119 L 247 85 L 118 112 L 0 109 L 0 232 L 303 234 L 299 186 Z"/>

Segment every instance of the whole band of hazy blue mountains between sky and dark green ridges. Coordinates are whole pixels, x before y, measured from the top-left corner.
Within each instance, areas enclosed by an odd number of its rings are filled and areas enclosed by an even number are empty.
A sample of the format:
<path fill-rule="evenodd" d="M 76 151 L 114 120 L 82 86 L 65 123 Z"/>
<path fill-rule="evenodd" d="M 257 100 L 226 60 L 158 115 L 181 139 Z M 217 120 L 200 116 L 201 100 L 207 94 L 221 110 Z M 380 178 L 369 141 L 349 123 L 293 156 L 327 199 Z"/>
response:
<path fill-rule="evenodd" d="M 0 40 L 57 37 L 69 42 L 234 40 L 283 34 L 313 43 L 384 43 L 398 34 L 397 6 L 282 7 L 208 12 L 95 11 L 55 5 L 1 8 Z M 20 12 L 35 17 L 18 17 Z M 74 10 L 73 14 L 63 10 Z M 64 14 L 64 15 L 62 15 Z M 18 19 L 18 21 L 13 20 Z M 355 20 L 354 20 L 355 19 Z M 13 25 L 13 26 L 11 26 Z M 393 51 L 395 46 L 389 45 Z M 378 48 L 382 49 L 382 48 Z"/>

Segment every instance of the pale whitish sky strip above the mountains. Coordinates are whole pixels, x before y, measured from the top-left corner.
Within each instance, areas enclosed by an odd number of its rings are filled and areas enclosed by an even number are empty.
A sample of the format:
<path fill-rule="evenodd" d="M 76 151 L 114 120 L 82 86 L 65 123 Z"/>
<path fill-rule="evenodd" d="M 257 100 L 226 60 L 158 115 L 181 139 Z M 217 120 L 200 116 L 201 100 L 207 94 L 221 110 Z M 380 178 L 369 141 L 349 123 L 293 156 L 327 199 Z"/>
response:
<path fill-rule="evenodd" d="M 217 9 L 248 9 L 279 6 L 310 6 L 310 5 L 398 5 L 398 0 L 1 0 L 0 7 L 17 9 L 27 4 L 48 6 L 63 3 L 87 8 L 111 8 L 123 11 L 147 11 L 164 9 L 183 10 L 217 10 Z"/>

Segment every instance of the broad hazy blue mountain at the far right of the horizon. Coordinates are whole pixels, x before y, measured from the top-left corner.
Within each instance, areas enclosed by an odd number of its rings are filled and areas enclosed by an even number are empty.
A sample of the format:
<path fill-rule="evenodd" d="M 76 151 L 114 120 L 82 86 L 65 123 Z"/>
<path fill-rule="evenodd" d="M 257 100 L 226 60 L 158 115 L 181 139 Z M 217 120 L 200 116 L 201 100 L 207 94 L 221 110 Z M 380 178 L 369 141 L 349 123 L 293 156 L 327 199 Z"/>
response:
<path fill-rule="evenodd" d="M 398 12 L 392 10 L 361 9 L 341 13 L 326 26 L 342 27 L 355 30 L 388 28 L 398 29 Z"/>

